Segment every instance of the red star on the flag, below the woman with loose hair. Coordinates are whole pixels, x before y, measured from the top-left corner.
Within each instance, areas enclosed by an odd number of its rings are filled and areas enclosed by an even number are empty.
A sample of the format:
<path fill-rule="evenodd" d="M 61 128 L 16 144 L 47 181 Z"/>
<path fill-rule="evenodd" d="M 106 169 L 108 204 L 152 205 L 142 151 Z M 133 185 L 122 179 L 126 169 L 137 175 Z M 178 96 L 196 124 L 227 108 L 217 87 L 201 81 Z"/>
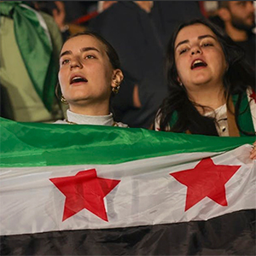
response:
<path fill-rule="evenodd" d="M 185 211 L 205 197 L 227 206 L 225 183 L 241 166 L 217 166 L 211 158 L 201 160 L 193 169 L 170 173 L 178 182 L 188 187 Z"/>

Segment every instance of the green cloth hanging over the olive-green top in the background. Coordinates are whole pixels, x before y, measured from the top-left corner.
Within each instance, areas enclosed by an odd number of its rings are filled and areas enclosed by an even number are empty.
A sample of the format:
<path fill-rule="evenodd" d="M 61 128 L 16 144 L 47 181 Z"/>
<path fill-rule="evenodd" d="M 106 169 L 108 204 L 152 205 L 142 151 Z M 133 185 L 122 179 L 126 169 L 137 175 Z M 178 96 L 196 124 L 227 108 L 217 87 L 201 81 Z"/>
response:
<path fill-rule="evenodd" d="M 57 68 L 51 64 L 52 45 L 36 12 L 20 3 L 1 3 L 0 15 L 6 15 L 14 20 L 15 38 L 27 72 L 38 96 L 44 102 L 45 107 L 50 110 L 57 81 Z"/>

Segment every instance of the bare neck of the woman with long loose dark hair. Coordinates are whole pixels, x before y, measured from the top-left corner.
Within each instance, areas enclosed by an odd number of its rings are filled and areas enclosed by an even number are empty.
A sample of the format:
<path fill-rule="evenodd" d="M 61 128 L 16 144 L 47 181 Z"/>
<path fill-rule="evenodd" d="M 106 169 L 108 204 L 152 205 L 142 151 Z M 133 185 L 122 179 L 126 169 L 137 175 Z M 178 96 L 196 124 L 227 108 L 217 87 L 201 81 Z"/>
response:
<path fill-rule="evenodd" d="M 198 90 L 188 90 L 189 99 L 196 104 L 201 106 L 216 109 L 225 103 L 224 87 L 216 88 L 198 88 Z M 201 107 L 195 107 L 202 113 L 203 109 Z M 206 109 L 206 112 L 211 111 Z"/>

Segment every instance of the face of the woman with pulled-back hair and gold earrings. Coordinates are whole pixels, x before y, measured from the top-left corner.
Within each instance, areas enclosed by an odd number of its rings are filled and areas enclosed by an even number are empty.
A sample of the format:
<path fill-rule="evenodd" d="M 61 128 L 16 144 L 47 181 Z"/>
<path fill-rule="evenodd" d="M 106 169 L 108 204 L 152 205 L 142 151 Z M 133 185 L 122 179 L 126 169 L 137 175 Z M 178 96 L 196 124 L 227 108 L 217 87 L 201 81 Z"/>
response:
<path fill-rule="evenodd" d="M 108 103 L 114 74 L 105 46 L 97 38 L 81 35 L 63 45 L 59 82 L 70 107 Z"/>

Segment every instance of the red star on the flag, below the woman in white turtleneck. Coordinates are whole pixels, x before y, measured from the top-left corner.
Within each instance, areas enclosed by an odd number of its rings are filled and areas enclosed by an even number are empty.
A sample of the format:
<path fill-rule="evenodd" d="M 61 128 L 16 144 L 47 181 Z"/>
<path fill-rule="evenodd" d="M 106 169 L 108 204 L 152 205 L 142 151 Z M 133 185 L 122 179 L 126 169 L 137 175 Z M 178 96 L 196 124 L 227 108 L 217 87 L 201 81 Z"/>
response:
<path fill-rule="evenodd" d="M 97 177 L 96 170 L 78 172 L 75 176 L 49 179 L 66 196 L 62 221 L 84 208 L 108 221 L 103 198 L 120 182 Z"/>

